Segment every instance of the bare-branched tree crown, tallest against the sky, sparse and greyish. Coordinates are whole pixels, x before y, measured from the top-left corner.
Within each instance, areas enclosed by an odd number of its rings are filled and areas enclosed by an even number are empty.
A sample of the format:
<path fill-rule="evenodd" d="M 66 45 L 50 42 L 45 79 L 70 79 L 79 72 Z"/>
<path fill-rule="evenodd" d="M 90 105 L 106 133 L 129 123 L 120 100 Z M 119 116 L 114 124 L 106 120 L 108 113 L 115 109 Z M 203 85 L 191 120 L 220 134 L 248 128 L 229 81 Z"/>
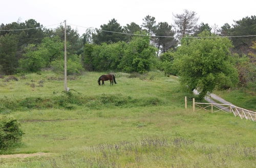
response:
<path fill-rule="evenodd" d="M 194 32 L 198 21 L 198 17 L 196 15 L 196 12 L 188 11 L 186 9 L 182 14 L 174 14 L 174 22 L 178 27 L 178 33 L 180 33 L 182 37 Z"/>

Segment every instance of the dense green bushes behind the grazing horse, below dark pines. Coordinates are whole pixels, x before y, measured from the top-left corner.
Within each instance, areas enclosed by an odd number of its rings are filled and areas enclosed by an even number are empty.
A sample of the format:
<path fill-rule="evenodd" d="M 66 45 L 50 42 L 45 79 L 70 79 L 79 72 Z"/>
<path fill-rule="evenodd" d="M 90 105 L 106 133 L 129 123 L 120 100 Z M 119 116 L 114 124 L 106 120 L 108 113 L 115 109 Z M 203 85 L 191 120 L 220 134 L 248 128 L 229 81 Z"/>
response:
<path fill-rule="evenodd" d="M 87 70 L 122 70 L 143 73 L 156 62 L 156 49 L 149 37 L 134 37 L 130 43 L 86 44 L 83 64 Z"/>

